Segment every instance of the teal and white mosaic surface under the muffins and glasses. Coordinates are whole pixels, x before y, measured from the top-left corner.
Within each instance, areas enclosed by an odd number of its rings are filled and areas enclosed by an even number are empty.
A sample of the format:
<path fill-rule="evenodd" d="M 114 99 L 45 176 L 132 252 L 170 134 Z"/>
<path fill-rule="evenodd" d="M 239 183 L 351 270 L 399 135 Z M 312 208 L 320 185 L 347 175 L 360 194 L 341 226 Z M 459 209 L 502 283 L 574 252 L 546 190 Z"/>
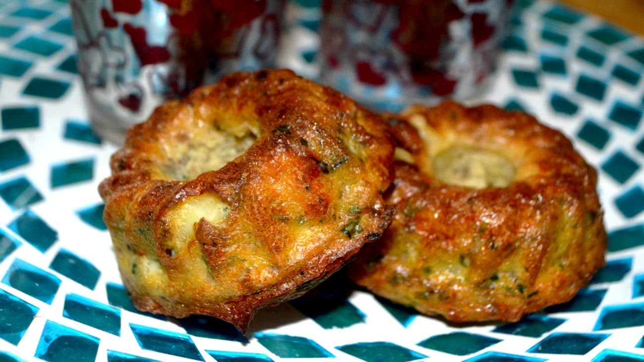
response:
<path fill-rule="evenodd" d="M 89 125 L 69 2 L 0 0 L 0 361 L 644 361 L 644 39 L 515 3 L 482 100 L 561 129 L 597 169 L 607 265 L 515 323 L 447 323 L 334 280 L 241 334 L 134 307 L 97 193 L 117 148 Z M 321 1 L 288 6 L 279 64 L 316 77 Z"/>

